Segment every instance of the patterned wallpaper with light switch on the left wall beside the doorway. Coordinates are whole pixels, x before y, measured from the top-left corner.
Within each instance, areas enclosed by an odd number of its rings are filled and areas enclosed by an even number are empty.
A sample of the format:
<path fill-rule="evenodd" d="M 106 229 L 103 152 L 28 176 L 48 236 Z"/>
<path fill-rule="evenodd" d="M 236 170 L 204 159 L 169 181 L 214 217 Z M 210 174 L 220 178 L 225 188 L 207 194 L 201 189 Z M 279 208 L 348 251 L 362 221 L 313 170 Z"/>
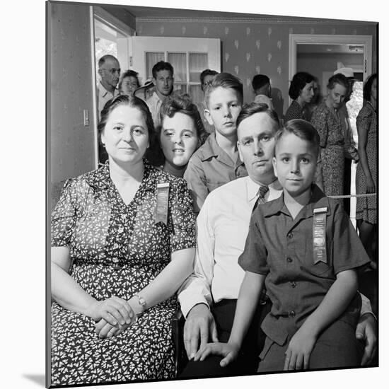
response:
<path fill-rule="evenodd" d="M 66 178 L 95 168 L 89 7 L 49 4 L 49 140 L 52 196 Z M 88 127 L 83 110 L 89 111 Z"/>

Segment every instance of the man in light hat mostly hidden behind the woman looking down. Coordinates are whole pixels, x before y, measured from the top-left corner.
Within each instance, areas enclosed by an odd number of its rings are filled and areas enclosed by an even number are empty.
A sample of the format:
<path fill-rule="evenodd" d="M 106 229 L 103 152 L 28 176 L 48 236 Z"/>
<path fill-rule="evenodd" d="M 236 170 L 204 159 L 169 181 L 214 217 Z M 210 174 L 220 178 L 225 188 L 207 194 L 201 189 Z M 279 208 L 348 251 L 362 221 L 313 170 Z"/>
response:
<path fill-rule="evenodd" d="M 349 81 L 349 90 L 347 91 L 347 96 L 344 99 L 344 103 L 339 108 L 339 117 L 342 122 L 342 127 L 344 130 L 344 152 L 346 158 L 344 158 L 344 182 L 343 182 L 343 193 L 350 194 L 350 186 L 351 186 L 351 166 L 352 160 L 358 162 L 358 150 L 356 149 L 356 144 L 352 137 L 352 127 L 349 121 L 349 113 L 347 112 L 346 103 L 350 100 L 350 96 L 352 94 L 352 86 L 354 84 L 354 70 L 350 67 L 342 67 L 334 71 L 334 74 L 343 74 L 347 77 Z M 344 210 L 347 214 L 350 214 L 350 199 L 344 199 L 343 202 Z"/>

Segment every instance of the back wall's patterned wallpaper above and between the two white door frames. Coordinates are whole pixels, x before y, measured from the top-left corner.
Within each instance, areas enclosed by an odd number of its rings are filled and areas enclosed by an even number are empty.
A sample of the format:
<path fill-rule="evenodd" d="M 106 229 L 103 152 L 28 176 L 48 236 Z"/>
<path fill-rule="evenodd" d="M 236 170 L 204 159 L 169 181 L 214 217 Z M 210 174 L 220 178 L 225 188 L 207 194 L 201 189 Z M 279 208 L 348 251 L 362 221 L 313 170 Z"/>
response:
<path fill-rule="evenodd" d="M 245 101 L 253 98 L 251 79 L 267 74 L 272 81 L 274 108 L 288 108 L 289 34 L 373 35 L 373 71 L 376 71 L 376 26 L 364 23 L 309 23 L 244 20 L 156 20 L 137 18 L 137 35 L 214 37 L 221 40 L 221 69 L 243 81 Z"/>

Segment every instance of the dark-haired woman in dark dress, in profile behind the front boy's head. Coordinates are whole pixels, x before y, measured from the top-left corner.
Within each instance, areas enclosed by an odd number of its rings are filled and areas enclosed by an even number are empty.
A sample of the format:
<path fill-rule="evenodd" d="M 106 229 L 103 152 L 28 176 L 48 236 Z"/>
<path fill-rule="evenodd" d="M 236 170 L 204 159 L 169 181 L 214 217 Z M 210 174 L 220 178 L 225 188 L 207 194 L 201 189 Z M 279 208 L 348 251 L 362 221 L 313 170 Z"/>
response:
<path fill-rule="evenodd" d="M 315 77 L 306 71 L 299 71 L 293 76 L 289 86 L 289 97 L 293 99 L 288 110 L 286 110 L 284 122 L 291 119 L 308 120 L 308 115 L 304 108 L 315 95 L 314 90 Z"/>

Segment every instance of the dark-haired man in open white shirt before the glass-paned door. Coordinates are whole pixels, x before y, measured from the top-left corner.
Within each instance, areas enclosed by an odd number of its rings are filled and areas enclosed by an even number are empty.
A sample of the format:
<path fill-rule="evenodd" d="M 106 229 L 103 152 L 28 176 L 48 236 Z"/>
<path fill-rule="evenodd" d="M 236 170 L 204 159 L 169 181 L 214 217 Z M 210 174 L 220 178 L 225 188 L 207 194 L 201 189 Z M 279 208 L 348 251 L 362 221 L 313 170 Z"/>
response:
<path fill-rule="evenodd" d="M 174 69 L 169 62 L 157 62 L 152 69 L 153 84 L 156 90 L 153 95 L 146 100 L 149 106 L 151 116 L 153 117 L 154 127 L 157 128 L 160 123 L 159 109 L 163 100 L 173 93 Z"/>

